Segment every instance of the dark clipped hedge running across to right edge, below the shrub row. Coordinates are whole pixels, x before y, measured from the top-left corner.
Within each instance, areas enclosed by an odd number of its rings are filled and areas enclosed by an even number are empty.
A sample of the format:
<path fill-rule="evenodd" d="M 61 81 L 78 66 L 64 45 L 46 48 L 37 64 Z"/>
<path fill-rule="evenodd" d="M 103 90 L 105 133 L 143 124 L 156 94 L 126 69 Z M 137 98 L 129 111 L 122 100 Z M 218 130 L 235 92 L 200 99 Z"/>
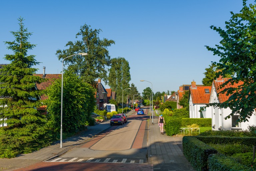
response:
<path fill-rule="evenodd" d="M 256 146 L 256 137 L 228 137 L 228 136 L 196 136 L 206 144 L 244 144 Z"/>

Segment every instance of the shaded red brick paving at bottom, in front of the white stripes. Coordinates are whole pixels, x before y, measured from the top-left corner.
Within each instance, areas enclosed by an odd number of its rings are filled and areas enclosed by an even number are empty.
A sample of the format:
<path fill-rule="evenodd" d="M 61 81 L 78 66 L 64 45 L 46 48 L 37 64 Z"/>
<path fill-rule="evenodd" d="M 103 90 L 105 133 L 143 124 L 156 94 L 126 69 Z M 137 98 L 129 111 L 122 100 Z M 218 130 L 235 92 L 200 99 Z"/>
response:
<path fill-rule="evenodd" d="M 40 162 L 15 171 L 150 171 L 150 164 Z"/>

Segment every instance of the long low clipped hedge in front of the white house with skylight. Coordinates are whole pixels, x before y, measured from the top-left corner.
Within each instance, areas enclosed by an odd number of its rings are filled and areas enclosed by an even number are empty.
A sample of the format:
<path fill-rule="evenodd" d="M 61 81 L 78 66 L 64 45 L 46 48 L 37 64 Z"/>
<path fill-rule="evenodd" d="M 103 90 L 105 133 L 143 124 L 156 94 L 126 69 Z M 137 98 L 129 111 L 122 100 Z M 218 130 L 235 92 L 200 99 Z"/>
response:
<path fill-rule="evenodd" d="M 212 118 L 182 118 L 182 126 L 197 124 L 199 126 L 212 126 Z"/>

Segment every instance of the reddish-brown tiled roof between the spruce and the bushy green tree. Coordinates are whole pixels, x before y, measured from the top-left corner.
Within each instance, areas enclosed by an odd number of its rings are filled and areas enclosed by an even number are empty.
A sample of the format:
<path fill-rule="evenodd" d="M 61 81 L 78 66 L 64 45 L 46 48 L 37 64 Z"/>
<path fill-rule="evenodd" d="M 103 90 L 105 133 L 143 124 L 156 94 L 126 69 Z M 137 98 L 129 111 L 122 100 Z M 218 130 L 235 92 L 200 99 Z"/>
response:
<path fill-rule="evenodd" d="M 33 74 L 34 76 L 39 76 L 39 77 L 43 77 L 43 74 Z M 36 84 L 36 87 L 38 90 L 45 90 L 47 87 L 49 87 L 54 79 L 61 79 L 61 74 L 46 74 L 45 75 L 45 79 L 47 79 L 47 81 L 41 83 L 41 84 Z M 41 100 L 45 100 L 48 97 L 45 95 L 41 96 Z"/>

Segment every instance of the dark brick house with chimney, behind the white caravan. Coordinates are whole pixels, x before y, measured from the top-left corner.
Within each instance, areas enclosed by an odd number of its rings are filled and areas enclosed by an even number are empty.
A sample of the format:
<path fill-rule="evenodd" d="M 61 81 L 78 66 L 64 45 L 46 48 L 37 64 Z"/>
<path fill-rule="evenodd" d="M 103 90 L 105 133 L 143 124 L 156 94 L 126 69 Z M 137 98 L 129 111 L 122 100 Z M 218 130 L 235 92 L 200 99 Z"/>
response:
<path fill-rule="evenodd" d="M 107 90 L 104 88 L 104 86 L 101 84 L 101 79 L 98 79 L 98 82 L 96 82 L 97 86 L 97 92 L 96 92 L 96 105 L 99 110 L 104 110 L 104 103 L 107 103 Z"/>

